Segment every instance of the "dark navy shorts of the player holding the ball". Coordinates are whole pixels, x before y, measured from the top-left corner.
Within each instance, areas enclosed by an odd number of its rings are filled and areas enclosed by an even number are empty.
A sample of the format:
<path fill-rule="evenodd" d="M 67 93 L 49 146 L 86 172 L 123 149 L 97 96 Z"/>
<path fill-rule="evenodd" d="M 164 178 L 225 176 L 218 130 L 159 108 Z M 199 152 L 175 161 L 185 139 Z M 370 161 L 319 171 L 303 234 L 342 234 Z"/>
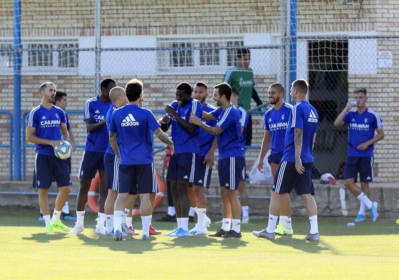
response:
<path fill-rule="evenodd" d="M 68 162 L 59 159 L 55 155 L 36 153 L 33 171 L 33 187 L 48 189 L 53 182 L 57 187 L 72 185 L 72 178 L 69 174 Z"/>

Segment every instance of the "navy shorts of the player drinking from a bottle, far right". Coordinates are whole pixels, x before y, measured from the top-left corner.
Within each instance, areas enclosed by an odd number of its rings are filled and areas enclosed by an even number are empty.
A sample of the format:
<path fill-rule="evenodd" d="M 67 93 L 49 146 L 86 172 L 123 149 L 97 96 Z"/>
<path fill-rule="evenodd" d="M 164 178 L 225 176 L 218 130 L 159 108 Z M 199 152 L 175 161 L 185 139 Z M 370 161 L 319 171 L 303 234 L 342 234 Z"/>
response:
<path fill-rule="evenodd" d="M 372 156 L 348 156 L 345 160 L 344 179 L 355 178 L 358 180 L 360 173 L 361 182 L 373 182 L 374 179 L 374 158 Z"/>

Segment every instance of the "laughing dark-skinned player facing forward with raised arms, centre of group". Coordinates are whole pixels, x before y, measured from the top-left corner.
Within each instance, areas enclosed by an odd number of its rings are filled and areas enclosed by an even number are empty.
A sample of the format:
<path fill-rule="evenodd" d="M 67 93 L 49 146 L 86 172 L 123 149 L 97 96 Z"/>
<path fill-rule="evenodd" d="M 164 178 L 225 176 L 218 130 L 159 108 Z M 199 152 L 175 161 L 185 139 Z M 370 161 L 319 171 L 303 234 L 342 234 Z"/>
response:
<path fill-rule="evenodd" d="M 201 117 L 200 101 L 192 97 L 193 88 L 189 83 L 176 87 L 176 100 L 165 106 L 167 115 L 159 120 L 165 132 L 172 126 L 172 140 L 175 154 L 169 160 L 166 179 L 171 181 L 173 204 L 176 210 L 178 227 L 167 236 L 189 236 L 190 198 L 188 187 L 194 180 L 195 163 L 200 152 L 200 129 L 189 123 L 190 115 Z"/>

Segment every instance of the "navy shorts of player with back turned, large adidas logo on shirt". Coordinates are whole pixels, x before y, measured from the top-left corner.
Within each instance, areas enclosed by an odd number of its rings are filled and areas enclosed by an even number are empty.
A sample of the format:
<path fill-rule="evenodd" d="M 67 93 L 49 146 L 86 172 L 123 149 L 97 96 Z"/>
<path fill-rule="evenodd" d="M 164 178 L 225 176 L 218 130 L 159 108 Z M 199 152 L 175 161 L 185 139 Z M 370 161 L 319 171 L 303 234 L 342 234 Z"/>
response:
<path fill-rule="evenodd" d="M 119 164 L 118 193 L 157 193 L 158 181 L 154 163 Z"/>

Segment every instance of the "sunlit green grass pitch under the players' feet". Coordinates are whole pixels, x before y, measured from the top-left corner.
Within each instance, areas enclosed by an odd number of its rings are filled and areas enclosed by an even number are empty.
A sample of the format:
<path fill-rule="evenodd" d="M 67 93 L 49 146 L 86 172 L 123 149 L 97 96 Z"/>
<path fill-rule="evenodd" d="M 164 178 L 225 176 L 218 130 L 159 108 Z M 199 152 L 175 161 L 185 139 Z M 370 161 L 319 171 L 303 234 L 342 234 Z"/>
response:
<path fill-rule="evenodd" d="M 93 214 L 86 215 L 85 231 L 77 236 L 57 230 L 44 234 L 37 214 L 0 210 L 1 279 L 399 278 L 399 226 L 393 219 L 348 228 L 349 219 L 321 217 L 320 242 L 299 240 L 309 223 L 298 217 L 293 218 L 295 235 L 273 242 L 251 234 L 266 220 L 242 225 L 241 239 L 162 235 L 151 242 L 139 237 L 115 242 L 94 234 Z M 164 233 L 175 225 L 153 224 Z M 133 225 L 140 229 L 140 219 L 135 217 Z M 217 229 L 212 224 L 210 231 Z"/>

